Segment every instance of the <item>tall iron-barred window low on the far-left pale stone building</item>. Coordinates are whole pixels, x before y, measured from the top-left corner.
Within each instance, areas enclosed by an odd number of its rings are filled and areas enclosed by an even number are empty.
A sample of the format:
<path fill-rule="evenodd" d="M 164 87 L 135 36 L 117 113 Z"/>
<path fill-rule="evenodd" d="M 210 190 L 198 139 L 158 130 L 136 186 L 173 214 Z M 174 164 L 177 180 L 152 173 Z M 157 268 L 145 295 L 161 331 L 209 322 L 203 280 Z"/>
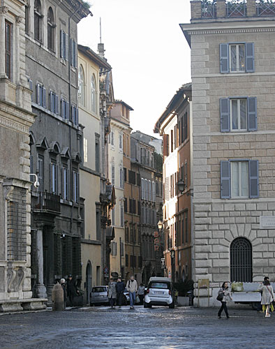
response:
<path fill-rule="evenodd" d="M 8 260 L 27 260 L 27 193 L 13 188 L 8 202 Z"/>

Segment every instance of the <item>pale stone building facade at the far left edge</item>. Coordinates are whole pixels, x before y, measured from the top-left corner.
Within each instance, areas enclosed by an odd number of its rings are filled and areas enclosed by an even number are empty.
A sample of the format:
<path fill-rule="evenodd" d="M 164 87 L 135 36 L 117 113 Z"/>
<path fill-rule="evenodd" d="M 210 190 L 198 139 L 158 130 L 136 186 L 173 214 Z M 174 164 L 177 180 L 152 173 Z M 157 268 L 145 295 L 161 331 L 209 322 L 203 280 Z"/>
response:
<path fill-rule="evenodd" d="M 24 3 L 1 2 L 0 28 L 0 312 L 43 309 L 43 302 L 31 299 L 34 114 L 24 60 Z"/>

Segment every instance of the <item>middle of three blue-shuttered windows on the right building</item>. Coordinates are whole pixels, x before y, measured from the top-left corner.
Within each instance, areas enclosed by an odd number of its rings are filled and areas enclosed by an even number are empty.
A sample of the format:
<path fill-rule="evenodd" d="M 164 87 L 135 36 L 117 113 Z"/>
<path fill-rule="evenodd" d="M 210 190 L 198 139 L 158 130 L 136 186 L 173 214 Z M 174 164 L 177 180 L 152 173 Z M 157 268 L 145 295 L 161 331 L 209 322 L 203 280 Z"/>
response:
<path fill-rule="evenodd" d="M 221 132 L 257 131 L 257 98 L 221 98 Z"/>

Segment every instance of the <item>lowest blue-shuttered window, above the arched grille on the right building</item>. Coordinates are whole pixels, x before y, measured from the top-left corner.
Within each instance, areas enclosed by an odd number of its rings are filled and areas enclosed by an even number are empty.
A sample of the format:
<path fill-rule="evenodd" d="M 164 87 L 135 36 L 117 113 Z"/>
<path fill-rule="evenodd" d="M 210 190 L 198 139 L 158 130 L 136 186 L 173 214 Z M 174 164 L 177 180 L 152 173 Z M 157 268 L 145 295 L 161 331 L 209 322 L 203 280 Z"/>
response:
<path fill-rule="evenodd" d="M 221 161 L 221 198 L 258 197 L 258 160 Z"/>

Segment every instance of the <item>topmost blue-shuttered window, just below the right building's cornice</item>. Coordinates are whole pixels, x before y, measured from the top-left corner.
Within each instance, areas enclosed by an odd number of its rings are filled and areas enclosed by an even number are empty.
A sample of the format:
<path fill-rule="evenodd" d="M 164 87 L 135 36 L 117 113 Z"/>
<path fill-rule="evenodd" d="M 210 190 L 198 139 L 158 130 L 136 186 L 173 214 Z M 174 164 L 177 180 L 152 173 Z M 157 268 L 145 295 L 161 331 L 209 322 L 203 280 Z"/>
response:
<path fill-rule="evenodd" d="M 220 44 L 221 73 L 253 73 L 254 43 Z"/>

